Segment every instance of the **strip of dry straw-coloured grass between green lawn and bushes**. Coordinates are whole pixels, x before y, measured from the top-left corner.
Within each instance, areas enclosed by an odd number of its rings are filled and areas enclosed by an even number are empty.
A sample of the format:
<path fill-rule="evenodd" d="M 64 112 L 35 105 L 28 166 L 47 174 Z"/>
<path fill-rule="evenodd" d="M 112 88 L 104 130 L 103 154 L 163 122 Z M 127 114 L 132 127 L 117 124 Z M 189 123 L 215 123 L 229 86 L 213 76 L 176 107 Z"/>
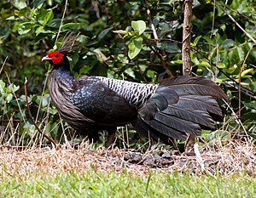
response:
<path fill-rule="evenodd" d="M 83 173 L 95 169 L 99 172 L 144 174 L 150 170 L 162 172 L 191 171 L 215 175 L 221 173 L 247 173 L 256 176 L 256 150 L 253 143 L 230 142 L 225 146 L 204 145 L 200 156 L 178 154 L 170 150 L 149 150 L 142 154 L 134 150 L 92 149 L 84 145 L 73 149 L 62 145 L 60 149 L 33 148 L 16 150 L 0 147 L 0 179 L 30 178 L 57 173 Z M 201 160 L 198 158 L 201 157 Z"/>

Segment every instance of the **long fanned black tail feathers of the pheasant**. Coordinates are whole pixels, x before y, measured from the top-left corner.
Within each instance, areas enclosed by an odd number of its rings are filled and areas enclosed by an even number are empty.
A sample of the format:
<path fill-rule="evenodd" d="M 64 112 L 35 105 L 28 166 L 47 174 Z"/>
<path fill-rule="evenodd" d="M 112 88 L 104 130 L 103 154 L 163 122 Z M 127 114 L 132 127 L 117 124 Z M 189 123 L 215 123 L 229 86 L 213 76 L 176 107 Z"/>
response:
<path fill-rule="evenodd" d="M 201 128 L 212 128 L 222 116 L 215 98 L 227 99 L 221 88 L 201 76 L 177 76 L 160 82 L 154 95 L 138 110 L 138 133 L 168 143 L 201 135 Z"/>

